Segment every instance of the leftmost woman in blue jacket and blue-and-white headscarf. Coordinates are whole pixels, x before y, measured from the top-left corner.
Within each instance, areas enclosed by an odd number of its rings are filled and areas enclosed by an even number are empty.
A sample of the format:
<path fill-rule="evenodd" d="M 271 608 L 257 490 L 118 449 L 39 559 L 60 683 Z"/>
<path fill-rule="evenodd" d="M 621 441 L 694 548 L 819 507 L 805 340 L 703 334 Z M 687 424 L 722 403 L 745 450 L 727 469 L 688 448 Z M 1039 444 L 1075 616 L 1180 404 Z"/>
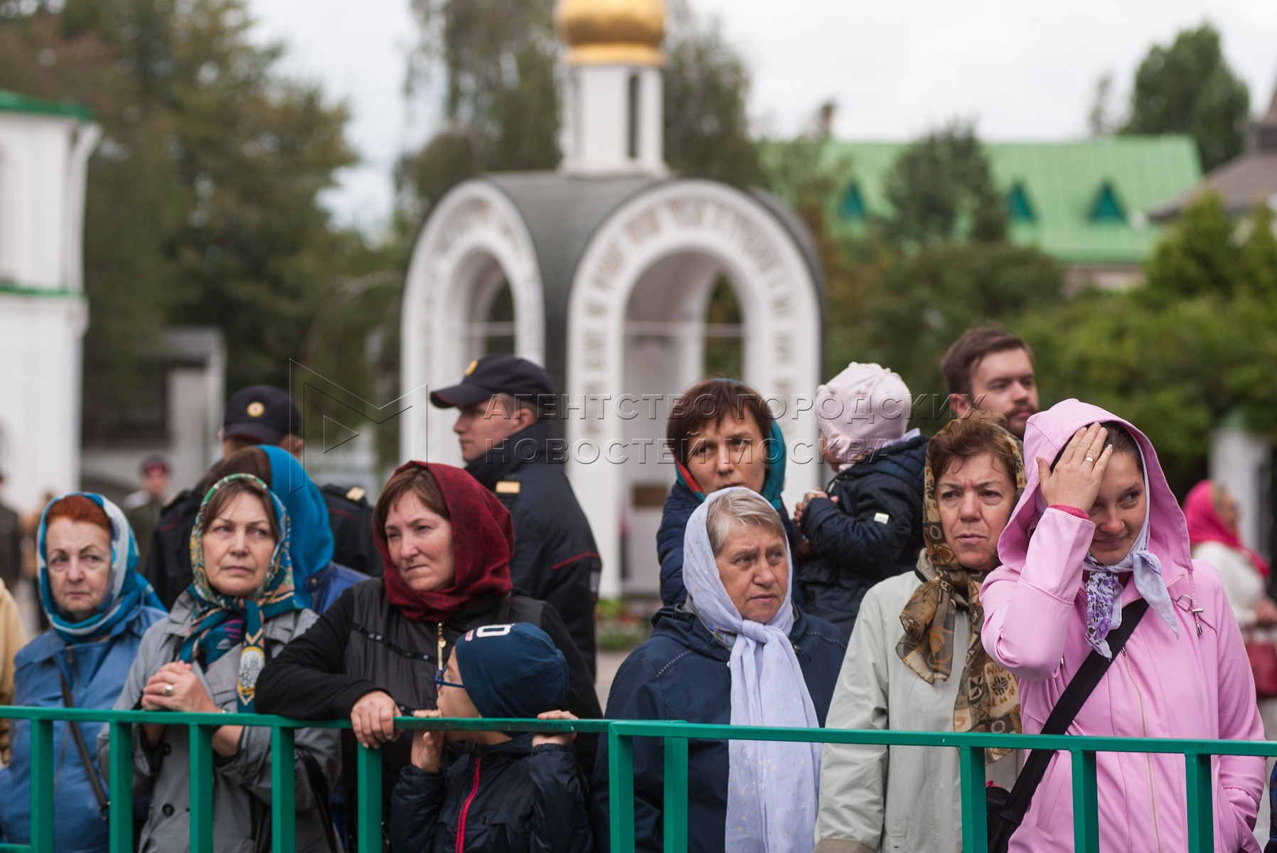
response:
<path fill-rule="evenodd" d="M 14 705 L 111 707 L 143 635 L 165 615 L 137 572 L 133 530 L 120 508 L 100 494 L 63 495 L 41 516 L 36 559 L 40 601 L 52 628 L 18 653 Z M 109 849 L 110 792 L 105 767 L 93 761 L 101 728 L 91 721 L 54 723 L 56 850 Z M 0 834 L 10 844 L 27 844 L 32 770 L 27 720 L 13 721 L 11 746 L 11 760 L 0 770 Z"/>

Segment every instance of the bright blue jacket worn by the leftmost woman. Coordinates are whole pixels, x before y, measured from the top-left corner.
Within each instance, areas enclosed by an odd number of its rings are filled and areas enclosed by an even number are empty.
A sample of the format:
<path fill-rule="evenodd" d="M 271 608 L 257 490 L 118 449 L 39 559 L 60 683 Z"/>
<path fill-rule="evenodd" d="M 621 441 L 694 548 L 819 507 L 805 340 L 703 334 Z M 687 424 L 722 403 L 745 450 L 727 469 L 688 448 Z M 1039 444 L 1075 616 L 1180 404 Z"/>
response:
<path fill-rule="evenodd" d="M 63 707 L 61 679 L 66 679 L 77 707 L 110 709 L 120 696 L 142 635 L 165 612 L 139 607 L 134 617 L 116 624 L 100 642 L 74 646 L 54 631 L 40 635 L 14 658 L 14 705 Z M 13 755 L 0 770 L 0 834 L 10 844 L 31 843 L 31 721 L 10 723 Z M 93 761 L 93 771 L 107 788 L 106 767 L 97 767 L 97 733 L 102 723 L 82 721 L 80 733 Z M 125 759 L 128 760 L 128 759 Z M 128 792 L 124 793 L 129 796 Z M 59 853 L 106 853 L 107 822 L 98 816 L 98 803 L 70 729 L 54 721 L 54 849 Z"/>

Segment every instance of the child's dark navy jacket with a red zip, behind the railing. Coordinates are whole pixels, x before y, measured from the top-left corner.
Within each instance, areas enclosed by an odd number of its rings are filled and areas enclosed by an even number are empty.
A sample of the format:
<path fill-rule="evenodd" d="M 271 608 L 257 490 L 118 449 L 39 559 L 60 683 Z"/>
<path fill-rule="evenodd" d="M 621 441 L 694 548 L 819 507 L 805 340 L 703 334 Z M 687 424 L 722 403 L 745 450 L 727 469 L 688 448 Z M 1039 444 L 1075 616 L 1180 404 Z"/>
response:
<path fill-rule="evenodd" d="M 391 853 L 590 853 L 576 766 L 572 747 L 534 748 L 531 734 L 475 746 L 446 773 L 409 765 L 391 794 Z"/>

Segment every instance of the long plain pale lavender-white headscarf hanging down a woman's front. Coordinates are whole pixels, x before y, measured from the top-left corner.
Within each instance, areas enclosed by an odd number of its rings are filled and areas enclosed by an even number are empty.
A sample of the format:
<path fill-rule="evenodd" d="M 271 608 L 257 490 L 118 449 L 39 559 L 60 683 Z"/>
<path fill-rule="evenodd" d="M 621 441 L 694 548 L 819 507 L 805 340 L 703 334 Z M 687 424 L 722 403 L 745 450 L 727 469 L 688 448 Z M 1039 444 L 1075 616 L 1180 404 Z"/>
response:
<path fill-rule="evenodd" d="M 785 547 L 790 582 L 771 622 L 741 617 L 719 577 L 705 520 L 714 492 L 687 521 L 683 582 L 696 613 L 732 642 L 732 725 L 820 728 L 789 631 L 793 628 L 793 559 Z M 750 492 L 750 494 L 753 494 Z M 816 836 L 820 743 L 730 741 L 728 746 L 727 849 L 732 853 L 811 853 Z"/>

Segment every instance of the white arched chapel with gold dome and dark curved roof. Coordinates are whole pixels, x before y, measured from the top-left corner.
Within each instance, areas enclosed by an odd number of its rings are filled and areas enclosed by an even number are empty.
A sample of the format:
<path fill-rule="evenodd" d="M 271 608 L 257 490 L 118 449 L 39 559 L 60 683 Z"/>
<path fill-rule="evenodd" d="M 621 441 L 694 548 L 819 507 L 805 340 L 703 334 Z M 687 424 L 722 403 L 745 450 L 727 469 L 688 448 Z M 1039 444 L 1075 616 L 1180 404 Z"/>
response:
<path fill-rule="evenodd" d="M 435 204 L 404 296 L 402 389 L 456 383 L 495 338 L 544 365 L 603 555 L 600 595 L 655 593 L 655 531 L 674 479 L 665 418 L 706 375 L 713 287 L 725 280 L 739 305 L 737 378 L 779 416 L 792 507 L 821 476 L 815 419 L 798 401 L 821 379 L 824 278 L 802 221 L 778 199 L 667 169 L 661 0 L 559 0 L 555 15 L 568 46 L 563 165 L 483 175 Z M 453 419 L 412 406 L 404 456 L 460 464 Z"/>

